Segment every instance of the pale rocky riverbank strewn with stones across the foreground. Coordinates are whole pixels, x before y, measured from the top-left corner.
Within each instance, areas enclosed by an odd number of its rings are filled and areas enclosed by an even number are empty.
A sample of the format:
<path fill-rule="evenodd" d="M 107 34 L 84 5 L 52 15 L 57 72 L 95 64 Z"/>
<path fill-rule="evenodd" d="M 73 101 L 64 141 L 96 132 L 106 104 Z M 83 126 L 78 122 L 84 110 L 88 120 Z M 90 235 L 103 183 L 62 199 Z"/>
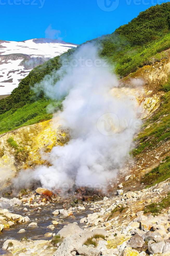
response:
<path fill-rule="evenodd" d="M 100 201 L 65 200 L 60 207 L 57 203 L 61 198 L 48 191 L 49 198 L 45 200 L 47 192 L 44 191 L 47 190 L 41 188 L 36 190 L 40 194 L 21 199 L 1 198 L 1 204 L 13 205 L 13 212 L 0 211 L 1 235 L 7 232 L 6 229 L 16 232 L 16 226 L 19 227 L 17 232 L 23 233 L 20 240 L 7 239 L 3 242 L 3 254 L 170 255 L 170 179 L 141 191 L 124 192 L 121 184 L 118 188 L 110 198 L 101 197 Z M 73 202 L 74 207 L 71 205 Z M 41 229 L 44 230 L 42 235 L 24 237 L 27 230 L 34 232 L 38 229 L 47 208 L 50 209 L 46 216 L 49 225 Z M 24 217 L 15 214 L 18 209 L 22 209 Z M 34 215 L 35 219 L 32 218 Z"/>

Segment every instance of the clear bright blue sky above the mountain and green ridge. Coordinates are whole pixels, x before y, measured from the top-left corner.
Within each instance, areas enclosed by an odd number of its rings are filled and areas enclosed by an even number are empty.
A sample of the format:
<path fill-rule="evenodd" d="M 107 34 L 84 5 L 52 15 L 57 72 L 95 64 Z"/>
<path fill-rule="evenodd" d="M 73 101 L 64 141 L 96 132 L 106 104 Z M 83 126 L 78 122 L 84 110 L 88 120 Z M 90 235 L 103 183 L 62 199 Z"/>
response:
<path fill-rule="evenodd" d="M 0 39 L 22 41 L 46 36 L 80 44 L 112 33 L 141 11 L 163 2 L 168 1 L 0 0 Z"/>

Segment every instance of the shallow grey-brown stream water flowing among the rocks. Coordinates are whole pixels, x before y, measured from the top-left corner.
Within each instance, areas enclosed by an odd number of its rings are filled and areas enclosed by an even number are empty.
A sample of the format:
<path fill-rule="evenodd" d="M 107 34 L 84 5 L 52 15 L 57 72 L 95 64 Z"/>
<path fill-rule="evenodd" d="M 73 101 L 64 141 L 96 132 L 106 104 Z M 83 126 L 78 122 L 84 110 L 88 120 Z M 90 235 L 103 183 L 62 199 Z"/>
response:
<path fill-rule="evenodd" d="M 56 233 L 63 228 L 63 226 L 77 222 L 79 226 L 83 226 L 83 224 L 80 224 L 80 219 L 87 216 L 87 214 L 92 213 L 90 210 L 86 209 L 83 211 L 80 211 L 79 213 L 73 213 L 74 215 L 71 215 L 67 218 L 63 218 L 64 222 L 58 225 L 55 225 L 55 229 L 51 230 L 47 228 L 47 226 L 52 224 L 53 220 L 58 219 L 57 216 L 53 216 L 52 212 L 54 212 L 56 209 L 62 209 L 63 206 L 56 204 L 55 206 L 41 206 L 42 211 L 36 212 L 31 211 L 29 212 L 30 207 L 28 207 L 28 212 L 23 212 L 23 206 L 18 206 L 15 209 L 8 209 L 10 212 L 19 214 L 24 216 L 28 216 L 30 218 L 30 221 L 27 223 L 17 224 L 14 227 L 11 227 L 9 229 L 3 229 L 3 231 L 0 233 L 0 248 L 2 248 L 3 243 L 7 239 L 15 239 L 20 241 L 22 238 L 27 237 L 28 239 L 32 240 L 50 240 L 51 237 L 44 236 L 47 232 Z M 31 208 L 33 209 L 33 208 Z M 37 219 L 37 220 L 36 220 Z M 29 228 L 28 224 L 31 222 L 37 222 L 38 228 Z M 25 229 L 24 233 L 18 233 L 20 229 Z M 5 251 L 0 249 L 0 255 L 4 254 Z M 6 253 L 9 255 L 9 253 L 6 251 Z"/>

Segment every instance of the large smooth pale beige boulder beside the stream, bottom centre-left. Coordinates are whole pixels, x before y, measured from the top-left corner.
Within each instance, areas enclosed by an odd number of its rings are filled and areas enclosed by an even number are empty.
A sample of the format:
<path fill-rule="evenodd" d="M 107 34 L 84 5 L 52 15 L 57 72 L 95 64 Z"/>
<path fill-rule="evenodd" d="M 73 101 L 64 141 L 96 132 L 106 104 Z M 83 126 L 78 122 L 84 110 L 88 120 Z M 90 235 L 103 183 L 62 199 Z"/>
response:
<path fill-rule="evenodd" d="M 62 228 L 60 231 L 58 231 L 57 235 L 60 235 L 61 237 L 69 237 L 71 235 L 79 234 L 83 230 L 78 226 L 76 222 L 68 224 L 64 228 Z"/>

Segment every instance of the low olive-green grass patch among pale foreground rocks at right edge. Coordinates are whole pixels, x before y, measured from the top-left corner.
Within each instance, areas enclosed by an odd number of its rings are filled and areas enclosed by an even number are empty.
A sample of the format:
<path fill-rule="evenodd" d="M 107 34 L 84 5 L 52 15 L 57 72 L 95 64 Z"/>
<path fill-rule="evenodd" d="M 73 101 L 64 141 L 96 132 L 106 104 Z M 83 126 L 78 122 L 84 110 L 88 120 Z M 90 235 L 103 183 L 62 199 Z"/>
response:
<path fill-rule="evenodd" d="M 150 205 L 145 206 L 144 213 L 153 213 L 153 215 L 158 215 L 161 213 L 162 209 L 166 209 L 170 206 L 170 193 L 168 196 L 163 199 L 159 204 L 151 203 Z"/>

